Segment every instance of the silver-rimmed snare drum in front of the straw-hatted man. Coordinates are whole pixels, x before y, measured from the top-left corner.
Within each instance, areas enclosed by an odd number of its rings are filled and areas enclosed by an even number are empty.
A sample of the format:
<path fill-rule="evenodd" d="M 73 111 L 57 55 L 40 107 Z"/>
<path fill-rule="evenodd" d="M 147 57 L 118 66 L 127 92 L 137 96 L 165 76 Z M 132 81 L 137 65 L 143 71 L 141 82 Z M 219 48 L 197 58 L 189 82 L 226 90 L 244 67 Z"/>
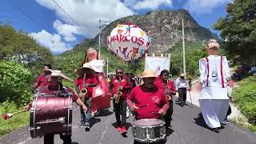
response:
<path fill-rule="evenodd" d="M 166 139 L 165 122 L 160 119 L 140 119 L 132 123 L 132 132 L 135 141 L 159 142 Z"/>

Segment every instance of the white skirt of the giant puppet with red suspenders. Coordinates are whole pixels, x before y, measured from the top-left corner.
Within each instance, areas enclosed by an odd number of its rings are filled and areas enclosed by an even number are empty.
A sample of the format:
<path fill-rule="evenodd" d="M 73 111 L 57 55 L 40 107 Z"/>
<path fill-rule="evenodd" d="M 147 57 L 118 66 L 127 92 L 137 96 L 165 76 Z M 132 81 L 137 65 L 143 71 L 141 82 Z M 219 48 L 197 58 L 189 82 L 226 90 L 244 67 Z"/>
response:
<path fill-rule="evenodd" d="M 202 110 L 202 116 L 206 125 L 210 128 L 220 127 L 222 120 L 226 118 L 229 108 L 228 99 L 198 99 Z"/>

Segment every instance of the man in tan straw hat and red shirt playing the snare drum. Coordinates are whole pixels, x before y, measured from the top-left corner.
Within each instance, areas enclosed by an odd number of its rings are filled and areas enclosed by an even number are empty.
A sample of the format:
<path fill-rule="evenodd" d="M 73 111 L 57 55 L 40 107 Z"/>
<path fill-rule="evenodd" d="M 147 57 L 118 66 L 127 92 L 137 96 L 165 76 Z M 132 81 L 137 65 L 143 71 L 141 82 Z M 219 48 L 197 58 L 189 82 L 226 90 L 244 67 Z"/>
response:
<path fill-rule="evenodd" d="M 130 110 L 136 113 L 136 119 L 160 118 L 169 109 L 169 102 L 164 91 L 154 85 L 154 70 L 144 70 L 143 84 L 134 87 L 127 98 Z"/>

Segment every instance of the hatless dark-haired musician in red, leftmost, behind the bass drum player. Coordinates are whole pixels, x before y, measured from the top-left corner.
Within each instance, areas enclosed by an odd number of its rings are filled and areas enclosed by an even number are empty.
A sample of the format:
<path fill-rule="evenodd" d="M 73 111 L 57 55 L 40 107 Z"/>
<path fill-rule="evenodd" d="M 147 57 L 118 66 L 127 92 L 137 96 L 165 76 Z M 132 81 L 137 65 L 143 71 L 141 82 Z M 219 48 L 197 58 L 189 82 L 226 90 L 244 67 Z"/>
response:
<path fill-rule="evenodd" d="M 39 86 L 49 86 L 50 85 L 50 74 L 51 72 L 48 70 L 51 69 L 51 65 L 43 65 L 43 74 L 41 74 L 38 78 L 38 81 L 35 82 L 33 90 L 36 90 Z"/>

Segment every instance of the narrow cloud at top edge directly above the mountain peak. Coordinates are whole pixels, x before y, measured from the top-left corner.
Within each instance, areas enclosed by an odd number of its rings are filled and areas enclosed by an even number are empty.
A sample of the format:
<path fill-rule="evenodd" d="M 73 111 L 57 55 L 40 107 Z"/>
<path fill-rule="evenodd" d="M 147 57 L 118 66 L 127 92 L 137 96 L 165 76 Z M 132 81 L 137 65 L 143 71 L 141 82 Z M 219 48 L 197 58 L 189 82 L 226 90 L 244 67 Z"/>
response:
<path fill-rule="evenodd" d="M 143 0 L 143 1 L 137 2 L 134 5 L 134 10 L 142 10 L 142 9 L 155 10 L 162 5 L 172 6 L 172 1 L 171 0 Z"/>

